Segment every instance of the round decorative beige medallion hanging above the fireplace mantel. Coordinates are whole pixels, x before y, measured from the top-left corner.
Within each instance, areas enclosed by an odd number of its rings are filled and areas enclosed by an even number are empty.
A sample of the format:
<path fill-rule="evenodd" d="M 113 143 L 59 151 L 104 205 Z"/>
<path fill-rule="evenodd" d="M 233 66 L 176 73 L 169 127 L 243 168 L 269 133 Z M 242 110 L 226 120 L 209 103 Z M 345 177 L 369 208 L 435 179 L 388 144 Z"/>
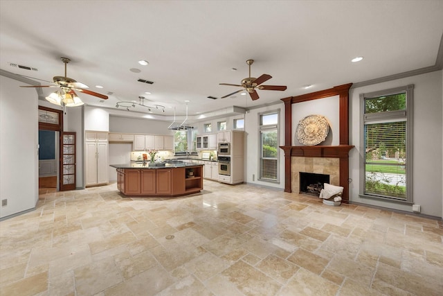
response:
<path fill-rule="evenodd" d="M 296 137 L 300 143 L 314 146 L 325 141 L 328 132 L 325 116 L 309 115 L 298 122 Z"/>

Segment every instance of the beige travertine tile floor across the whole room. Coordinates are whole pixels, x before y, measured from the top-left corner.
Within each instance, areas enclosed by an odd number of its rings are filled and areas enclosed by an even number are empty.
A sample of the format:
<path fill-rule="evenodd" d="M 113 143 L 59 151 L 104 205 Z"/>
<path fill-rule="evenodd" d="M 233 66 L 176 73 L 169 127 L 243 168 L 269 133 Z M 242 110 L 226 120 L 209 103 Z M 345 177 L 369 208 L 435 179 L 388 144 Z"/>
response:
<path fill-rule="evenodd" d="M 0 222 L 0 295 L 443 295 L 442 220 L 204 187 L 42 191 L 36 211 Z"/>

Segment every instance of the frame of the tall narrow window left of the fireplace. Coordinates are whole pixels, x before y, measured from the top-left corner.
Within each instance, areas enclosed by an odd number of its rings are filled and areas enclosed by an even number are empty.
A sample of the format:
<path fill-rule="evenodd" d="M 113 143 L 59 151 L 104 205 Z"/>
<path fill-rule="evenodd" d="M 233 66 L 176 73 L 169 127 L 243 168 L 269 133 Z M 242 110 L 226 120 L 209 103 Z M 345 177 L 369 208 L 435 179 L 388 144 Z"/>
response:
<path fill-rule="evenodd" d="M 263 125 L 262 117 L 266 115 L 276 114 L 277 115 L 277 123 Z M 258 172 L 257 172 L 257 180 L 262 182 L 271 182 L 271 183 L 280 183 L 280 149 L 277 146 L 277 156 L 275 157 L 276 166 L 275 166 L 275 180 L 264 178 L 261 175 L 262 172 L 262 159 L 273 159 L 271 157 L 262 157 L 263 149 L 262 149 L 262 132 L 267 132 L 270 130 L 275 130 L 277 132 L 277 145 L 280 143 L 280 109 L 278 110 L 270 110 L 266 112 L 260 112 L 257 116 L 258 119 Z"/>

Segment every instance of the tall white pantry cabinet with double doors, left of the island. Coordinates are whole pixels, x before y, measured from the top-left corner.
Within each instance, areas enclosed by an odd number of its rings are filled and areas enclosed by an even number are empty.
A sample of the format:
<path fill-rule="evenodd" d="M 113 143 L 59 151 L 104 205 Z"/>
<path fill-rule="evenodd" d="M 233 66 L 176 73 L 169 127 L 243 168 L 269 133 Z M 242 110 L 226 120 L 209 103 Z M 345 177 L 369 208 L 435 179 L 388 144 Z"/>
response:
<path fill-rule="evenodd" d="M 107 141 L 85 142 L 85 186 L 106 184 L 108 180 Z"/>

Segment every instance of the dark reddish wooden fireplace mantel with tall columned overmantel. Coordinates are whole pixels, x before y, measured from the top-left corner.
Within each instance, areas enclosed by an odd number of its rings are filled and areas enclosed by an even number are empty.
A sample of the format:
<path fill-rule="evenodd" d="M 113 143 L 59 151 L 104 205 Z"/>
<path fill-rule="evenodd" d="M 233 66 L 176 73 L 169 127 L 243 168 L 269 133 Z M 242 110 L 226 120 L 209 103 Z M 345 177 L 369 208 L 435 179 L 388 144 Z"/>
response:
<path fill-rule="evenodd" d="M 338 85 L 301 96 L 282 98 L 284 102 L 284 191 L 291 192 L 291 157 L 337 157 L 340 159 L 340 186 L 343 186 L 343 202 L 349 201 L 349 89 L 352 83 Z M 340 139 L 338 146 L 291 146 L 292 136 L 292 104 L 305 101 L 339 96 L 340 100 Z"/>

